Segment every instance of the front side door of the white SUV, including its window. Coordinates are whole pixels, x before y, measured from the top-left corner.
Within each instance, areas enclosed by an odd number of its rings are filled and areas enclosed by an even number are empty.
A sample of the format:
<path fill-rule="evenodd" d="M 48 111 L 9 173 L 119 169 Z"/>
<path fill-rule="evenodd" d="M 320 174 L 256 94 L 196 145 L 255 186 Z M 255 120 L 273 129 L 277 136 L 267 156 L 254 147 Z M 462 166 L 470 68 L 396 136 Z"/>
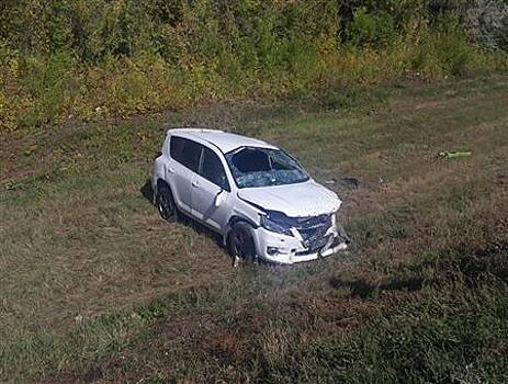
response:
<path fill-rule="evenodd" d="M 219 206 L 215 206 L 215 199 L 224 193 Z M 230 185 L 224 165 L 214 150 L 203 146 L 203 155 L 199 174 L 192 180 L 192 215 L 208 226 L 222 230 L 228 219 Z"/>

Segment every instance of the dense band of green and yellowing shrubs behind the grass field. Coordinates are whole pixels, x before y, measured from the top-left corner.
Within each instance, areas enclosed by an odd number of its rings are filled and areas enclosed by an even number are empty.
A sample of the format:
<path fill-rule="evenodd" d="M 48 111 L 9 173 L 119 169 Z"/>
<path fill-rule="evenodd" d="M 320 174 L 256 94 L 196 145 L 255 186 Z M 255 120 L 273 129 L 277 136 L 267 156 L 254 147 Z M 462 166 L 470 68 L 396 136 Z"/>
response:
<path fill-rule="evenodd" d="M 0 126 L 506 68 L 461 12 L 436 0 L 2 1 Z"/>

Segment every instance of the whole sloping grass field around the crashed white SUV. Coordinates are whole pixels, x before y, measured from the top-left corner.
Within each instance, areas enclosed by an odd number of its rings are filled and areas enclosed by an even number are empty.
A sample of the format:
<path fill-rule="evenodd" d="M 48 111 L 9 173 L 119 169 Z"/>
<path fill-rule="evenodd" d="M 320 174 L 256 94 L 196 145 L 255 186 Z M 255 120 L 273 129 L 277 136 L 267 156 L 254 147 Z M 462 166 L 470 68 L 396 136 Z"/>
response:
<path fill-rule="evenodd" d="M 0 382 L 508 382 L 507 105 L 493 75 L 3 134 Z M 336 180 L 350 250 L 233 269 L 160 219 L 151 158 L 192 123 Z"/>

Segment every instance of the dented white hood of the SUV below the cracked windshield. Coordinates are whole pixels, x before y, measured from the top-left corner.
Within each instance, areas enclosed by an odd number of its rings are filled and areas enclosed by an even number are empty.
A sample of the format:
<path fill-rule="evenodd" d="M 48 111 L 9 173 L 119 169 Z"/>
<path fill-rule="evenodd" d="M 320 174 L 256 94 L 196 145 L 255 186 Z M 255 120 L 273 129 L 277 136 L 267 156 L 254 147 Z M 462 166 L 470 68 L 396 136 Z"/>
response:
<path fill-rule="evenodd" d="M 341 201 L 315 181 L 297 184 L 246 188 L 238 196 L 263 210 L 283 212 L 290 217 L 307 217 L 337 212 Z"/>

